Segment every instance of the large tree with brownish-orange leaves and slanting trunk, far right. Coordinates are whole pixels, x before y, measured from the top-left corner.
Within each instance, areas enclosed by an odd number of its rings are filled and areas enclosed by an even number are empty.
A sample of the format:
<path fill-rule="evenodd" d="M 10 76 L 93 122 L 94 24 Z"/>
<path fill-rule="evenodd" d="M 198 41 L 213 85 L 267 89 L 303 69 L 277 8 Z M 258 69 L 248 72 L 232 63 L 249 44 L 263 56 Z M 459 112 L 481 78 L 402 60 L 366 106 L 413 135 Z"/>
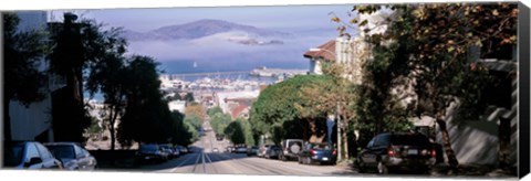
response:
<path fill-rule="evenodd" d="M 489 83 L 487 68 L 471 47 L 481 46 L 481 55 L 516 43 L 518 7 L 516 3 L 454 3 L 388 6 L 395 11 L 383 24 L 384 33 L 368 34 L 366 41 L 373 47 L 369 62 L 382 62 L 383 54 L 393 56 L 384 63 L 404 67 L 391 78 L 412 77 L 416 84 L 417 116 L 435 119 L 451 168 L 459 162 L 446 128 L 448 108 L 459 106 L 458 119 L 479 116 L 486 108 L 481 103 L 481 89 Z M 379 6 L 354 7 L 358 13 L 374 13 Z M 362 32 L 371 32 L 367 22 L 355 18 L 352 23 Z M 381 74 L 375 74 L 381 75 Z"/>

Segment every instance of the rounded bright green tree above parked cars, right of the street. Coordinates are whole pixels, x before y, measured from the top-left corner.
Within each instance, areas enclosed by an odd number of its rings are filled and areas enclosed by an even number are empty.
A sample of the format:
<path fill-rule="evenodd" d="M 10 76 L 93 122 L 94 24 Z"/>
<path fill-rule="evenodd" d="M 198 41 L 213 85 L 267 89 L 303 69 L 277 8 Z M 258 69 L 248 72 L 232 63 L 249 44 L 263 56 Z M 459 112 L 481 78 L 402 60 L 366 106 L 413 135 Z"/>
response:
<path fill-rule="evenodd" d="M 302 125 L 302 138 L 310 139 L 312 135 L 317 135 L 311 129 L 311 124 L 324 121 L 326 113 L 301 111 L 298 107 L 311 107 L 309 100 L 315 97 L 305 97 L 302 88 L 311 85 L 321 85 L 330 81 L 326 76 L 319 75 L 298 75 L 288 81 L 267 87 L 260 93 L 257 102 L 253 103 L 250 114 L 252 131 L 260 135 L 273 132 L 274 126 L 282 126 L 284 121 L 294 121 Z M 324 128 L 325 129 L 325 128 Z M 299 130 L 285 130 L 299 132 Z M 288 136 L 289 134 L 275 134 Z"/>

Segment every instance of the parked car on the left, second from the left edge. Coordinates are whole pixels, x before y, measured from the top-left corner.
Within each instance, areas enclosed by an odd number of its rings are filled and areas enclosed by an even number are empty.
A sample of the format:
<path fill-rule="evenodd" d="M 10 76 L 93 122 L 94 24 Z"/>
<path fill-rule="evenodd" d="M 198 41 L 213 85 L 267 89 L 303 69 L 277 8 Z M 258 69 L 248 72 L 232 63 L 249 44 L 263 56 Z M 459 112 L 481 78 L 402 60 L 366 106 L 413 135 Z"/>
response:
<path fill-rule="evenodd" d="M 75 142 L 46 142 L 44 146 L 66 170 L 94 170 L 97 166 L 96 159 Z"/>

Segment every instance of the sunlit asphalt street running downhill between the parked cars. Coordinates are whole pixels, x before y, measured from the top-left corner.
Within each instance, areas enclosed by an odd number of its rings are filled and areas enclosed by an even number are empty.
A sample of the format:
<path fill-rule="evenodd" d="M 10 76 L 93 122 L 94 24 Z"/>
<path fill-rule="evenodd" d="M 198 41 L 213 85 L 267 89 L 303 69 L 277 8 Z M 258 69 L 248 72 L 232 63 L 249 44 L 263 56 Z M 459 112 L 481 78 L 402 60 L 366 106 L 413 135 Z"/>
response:
<path fill-rule="evenodd" d="M 205 136 L 191 147 L 192 152 L 164 163 L 146 164 L 139 169 L 164 173 L 199 174 L 258 174 L 258 175 L 342 175 L 356 174 L 348 167 L 308 166 L 296 161 L 271 160 L 248 157 L 246 153 L 223 152 L 229 145 L 227 140 L 218 141 L 208 123 L 204 125 Z M 212 152 L 217 148 L 219 152 Z"/>

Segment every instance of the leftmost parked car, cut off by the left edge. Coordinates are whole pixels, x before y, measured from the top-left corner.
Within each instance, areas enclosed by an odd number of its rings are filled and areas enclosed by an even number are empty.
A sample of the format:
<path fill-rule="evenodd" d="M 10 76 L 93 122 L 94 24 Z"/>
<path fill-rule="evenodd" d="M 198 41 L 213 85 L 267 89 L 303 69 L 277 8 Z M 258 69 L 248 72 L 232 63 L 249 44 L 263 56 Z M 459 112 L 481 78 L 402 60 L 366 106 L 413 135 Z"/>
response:
<path fill-rule="evenodd" d="M 63 169 L 63 164 L 42 143 L 10 141 L 3 145 L 3 168 Z"/>

